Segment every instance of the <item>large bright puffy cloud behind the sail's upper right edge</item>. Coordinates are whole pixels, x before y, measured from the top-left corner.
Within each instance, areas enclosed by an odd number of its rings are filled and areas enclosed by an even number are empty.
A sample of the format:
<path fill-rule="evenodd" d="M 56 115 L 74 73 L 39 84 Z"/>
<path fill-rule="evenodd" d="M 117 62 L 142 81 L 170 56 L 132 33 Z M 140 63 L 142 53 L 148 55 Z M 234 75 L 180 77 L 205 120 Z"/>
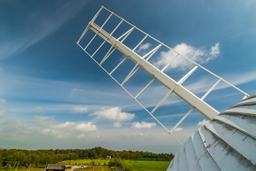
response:
<path fill-rule="evenodd" d="M 209 60 L 214 59 L 215 57 L 217 57 L 218 54 L 220 54 L 219 46 L 219 43 L 216 43 L 215 46 L 212 46 L 211 51 L 206 51 L 202 48 L 195 48 L 193 46 L 189 46 L 186 43 L 180 43 L 176 45 L 173 49 L 182 54 L 183 56 L 195 61 L 196 63 L 207 63 Z M 157 61 L 155 61 L 153 64 L 159 68 L 163 68 L 169 62 L 171 62 L 176 55 L 177 54 L 172 50 L 161 51 L 160 56 L 157 58 Z M 186 68 L 191 68 L 192 66 L 195 65 L 189 60 L 186 60 L 185 58 L 179 56 L 170 64 L 168 69 L 175 68 L 180 71 L 184 71 Z"/>

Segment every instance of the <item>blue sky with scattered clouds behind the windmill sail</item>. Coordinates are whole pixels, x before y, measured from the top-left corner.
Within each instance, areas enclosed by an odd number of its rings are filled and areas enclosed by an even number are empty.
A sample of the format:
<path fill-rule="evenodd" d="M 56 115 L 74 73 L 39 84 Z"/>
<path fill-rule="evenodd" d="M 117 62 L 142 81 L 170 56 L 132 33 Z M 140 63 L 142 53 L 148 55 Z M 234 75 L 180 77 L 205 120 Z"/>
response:
<path fill-rule="evenodd" d="M 254 0 L 0 0 L 0 148 L 101 146 L 175 154 L 179 142 L 76 44 L 101 6 L 247 94 L 256 93 Z M 106 14 L 102 12 L 101 17 L 106 19 Z M 100 18 L 96 21 L 102 22 Z M 111 21 L 103 29 L 115 26 Z M 114 36 L 128 29 L 121 27 Z M 141 39 L 135 33 L 124 44 L 134 47 Z M 90 40 L 85 36 L 83 41 Z M 96 44 L 87 50 L 93 53 Z M 143 56 L 155 45 L 145 40 L 135 52 Z M 113 68 L 124 57 L 115 53 L 117 58 L 106 60 L 106 68 Z M 95 58 L 104 55 L 97 52 Z M 154 56 L 150 62 L 163 68 L 173 53 L 160 49 Z M 125 78 L 131 65 L 125 62 L 114 77 Z M 191 68 L 180 57 L 165 71 L 178 81 Z M 201 71 L 196 70 L 183 83 L 200 98 L 218 80 Z M 124 87 L 136 94 L 151 79 L 140 69 Z M 154 81 L 139 100 L 152 110 L 167 91 Z M 205 101 L 221 112 L 243 97 L 220 83 Z M 171 130 L 190 108 L 173 95 L 154 117 Z M 207 121 L 193 110 L 172 134 L 184 143 Z"/>

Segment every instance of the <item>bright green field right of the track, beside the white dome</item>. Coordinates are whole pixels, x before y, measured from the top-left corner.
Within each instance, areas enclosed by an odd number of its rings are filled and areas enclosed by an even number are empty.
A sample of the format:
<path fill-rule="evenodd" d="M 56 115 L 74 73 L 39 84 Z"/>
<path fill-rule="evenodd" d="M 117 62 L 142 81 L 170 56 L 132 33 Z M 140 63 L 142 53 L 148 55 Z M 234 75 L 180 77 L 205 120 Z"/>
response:
<path fill-rule="evenodd" d="M 130 166 L 134 171 L 166 171 L 170 164 L 170 162 L 140 160 L 122 160 L 122 163 Z"/>

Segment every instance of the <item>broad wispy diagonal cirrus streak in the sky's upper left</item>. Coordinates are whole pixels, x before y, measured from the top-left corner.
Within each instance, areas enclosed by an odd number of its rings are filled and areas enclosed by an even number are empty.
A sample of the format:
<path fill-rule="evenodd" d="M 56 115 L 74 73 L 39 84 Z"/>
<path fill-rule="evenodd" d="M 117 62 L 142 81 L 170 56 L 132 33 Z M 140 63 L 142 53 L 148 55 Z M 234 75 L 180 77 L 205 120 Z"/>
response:
<path fill-rule="evenodd" d="M 14 30 L 2 30 L 0 37 L 0 58 L 6 58 L 11 55 L 20 53 L 31 47 L 40 40 L 57 31 L 64 23 L 71 20 L 76 14 L 83 9 L 86 1 L 73 3 L 67 1 L 62 6 L 52 6 L 54 12 L 45 13 L 49 6 L 40 6 L 40 9 L 34 8 L 25 16 L 25 20 L 20 21 L 20 25 L 10 24 Z M 26 10 L 26 9 L 24 9 Z"/>

